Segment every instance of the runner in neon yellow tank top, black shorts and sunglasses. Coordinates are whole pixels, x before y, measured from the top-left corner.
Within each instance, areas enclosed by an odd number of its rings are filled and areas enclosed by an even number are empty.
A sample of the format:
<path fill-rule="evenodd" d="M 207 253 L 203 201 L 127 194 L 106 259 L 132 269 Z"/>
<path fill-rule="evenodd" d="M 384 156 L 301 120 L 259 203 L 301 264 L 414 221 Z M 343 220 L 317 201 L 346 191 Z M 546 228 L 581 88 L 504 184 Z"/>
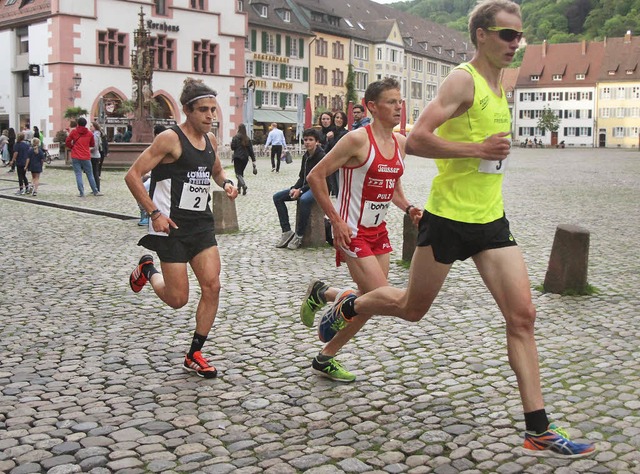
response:
<path fill-rule="evenodd" d="M 527 267 L 502 206 L 500 172 L 511 143 L 500 72 L 513 60 L 522 37 L 520 7 L 485 0 L 469 16 L 469 34 L 476 46 L 473 59 L 451 72 L 407 138 L 407 154 L 435 158 L 439 170 L 420 221 L 409 286 L 387 286 L 359 297 L 342 291 L 322 318 L 321 331 L 340 330 L 359 314 L 419 321 L 453 262 L 471 257 L 506 322 L 507 355 L 526 427 L 520 449 L 533 456 L 589 456 L 595 452 L 592 444 L 570 441 L 547 419 Z M 564 357 L 569 360 L 571 353 Z"/>

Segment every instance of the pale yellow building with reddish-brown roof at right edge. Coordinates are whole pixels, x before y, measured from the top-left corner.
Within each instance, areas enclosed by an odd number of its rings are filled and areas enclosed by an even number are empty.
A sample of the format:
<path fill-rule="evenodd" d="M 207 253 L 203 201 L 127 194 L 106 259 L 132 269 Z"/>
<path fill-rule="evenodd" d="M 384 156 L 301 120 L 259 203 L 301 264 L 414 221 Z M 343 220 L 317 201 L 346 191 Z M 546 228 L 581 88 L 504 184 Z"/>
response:
<path fill-rule="evenodd" d="M 640 146 L 640 38 L 607 38 L 597 90 L 598 146 Z"/>

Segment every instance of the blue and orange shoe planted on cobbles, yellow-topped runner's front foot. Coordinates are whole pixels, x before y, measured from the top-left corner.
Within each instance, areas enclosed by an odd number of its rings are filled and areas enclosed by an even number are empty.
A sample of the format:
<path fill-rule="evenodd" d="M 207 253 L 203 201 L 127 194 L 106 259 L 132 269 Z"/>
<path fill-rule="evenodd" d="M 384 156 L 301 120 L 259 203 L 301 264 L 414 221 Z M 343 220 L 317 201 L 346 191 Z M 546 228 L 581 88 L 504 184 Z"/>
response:
<path fill-rule="evenodd" d="M 595 452 L 596 448 L 593 444 L 574 443 L 569 440 L 566 431 L 553 423 L 544 433 L 535 434 L 528 431 L 524 433 L 522 453 L 529 456 L 573 459 L 591 456 Z"/>

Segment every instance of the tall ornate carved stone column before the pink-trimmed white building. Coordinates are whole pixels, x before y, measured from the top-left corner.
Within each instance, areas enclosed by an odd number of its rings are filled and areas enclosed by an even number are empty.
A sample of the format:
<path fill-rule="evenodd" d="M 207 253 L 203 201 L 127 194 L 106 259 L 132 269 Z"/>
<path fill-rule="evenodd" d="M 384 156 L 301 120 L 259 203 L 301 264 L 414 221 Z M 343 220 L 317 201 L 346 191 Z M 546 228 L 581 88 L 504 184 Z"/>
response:
<path fill-rule="evenodd" d="M 153 89 L 153 64 L 151 51 L 151 34 L 144 27 L 144 13 L 140 7 L 140 22 L 134 31 L 134 50 L 131 52 L 131 79 L 133 80 L 131 99 L 135 102 L 133 120 L 134 143 L 150 143 L 153 141 L 153 125 L 151 119 L 151 101 Z"/>

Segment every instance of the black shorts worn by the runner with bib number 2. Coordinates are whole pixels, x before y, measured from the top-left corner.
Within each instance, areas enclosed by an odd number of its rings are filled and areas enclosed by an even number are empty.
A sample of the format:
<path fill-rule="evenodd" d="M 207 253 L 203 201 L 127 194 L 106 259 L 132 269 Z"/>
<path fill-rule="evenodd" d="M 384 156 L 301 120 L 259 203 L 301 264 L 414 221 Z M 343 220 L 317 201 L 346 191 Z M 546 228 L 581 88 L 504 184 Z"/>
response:
<path fill-rule="evenodd" d="M 218 242 L 213 231 L 205 231 L 183 237 L 145 235 L 138 245 L 156 252 L 161 262 L 187 263 L 203 250 L 217 246 Z"/>

